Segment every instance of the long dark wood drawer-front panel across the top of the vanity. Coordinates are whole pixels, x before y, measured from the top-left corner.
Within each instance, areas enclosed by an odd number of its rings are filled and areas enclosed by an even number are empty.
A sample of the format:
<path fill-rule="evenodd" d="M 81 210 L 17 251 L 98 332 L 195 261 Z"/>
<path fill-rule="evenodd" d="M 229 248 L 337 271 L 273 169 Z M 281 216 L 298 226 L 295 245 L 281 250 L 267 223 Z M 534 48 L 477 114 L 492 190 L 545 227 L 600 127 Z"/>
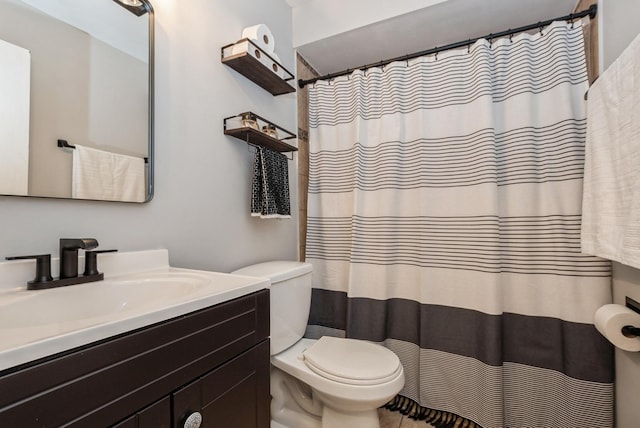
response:
<path fill-rule="evenodd" d="M 268 335 L 263 290 L 76 349 L 0 377 L 0 427 L 112 425 Z"/>

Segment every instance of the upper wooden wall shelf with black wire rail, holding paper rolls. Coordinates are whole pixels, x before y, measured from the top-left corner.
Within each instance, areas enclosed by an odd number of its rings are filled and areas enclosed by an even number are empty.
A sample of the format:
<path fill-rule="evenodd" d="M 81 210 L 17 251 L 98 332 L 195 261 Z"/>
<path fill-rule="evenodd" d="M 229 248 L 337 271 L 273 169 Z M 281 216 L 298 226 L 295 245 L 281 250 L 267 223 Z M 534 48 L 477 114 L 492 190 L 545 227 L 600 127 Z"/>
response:
<path fill-rule="evenodd" d="M 222 47 L 222 63 L 236 70 L 272 95 L 295 92 L 288 82 L 295 77 L 250 39 Z M 271 67 L 271 68 L 269 68 Z"/>

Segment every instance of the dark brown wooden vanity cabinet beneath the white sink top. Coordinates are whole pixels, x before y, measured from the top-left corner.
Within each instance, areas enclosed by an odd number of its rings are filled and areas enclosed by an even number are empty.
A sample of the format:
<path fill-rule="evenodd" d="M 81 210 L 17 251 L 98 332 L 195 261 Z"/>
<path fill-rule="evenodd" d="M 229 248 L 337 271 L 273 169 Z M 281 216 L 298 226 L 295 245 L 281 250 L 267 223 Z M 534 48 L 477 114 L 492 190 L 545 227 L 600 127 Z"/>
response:
<path fill-rule="evenodd" d="M 268 428 L 262 290 L 0 374 L 0 427 Z"/>

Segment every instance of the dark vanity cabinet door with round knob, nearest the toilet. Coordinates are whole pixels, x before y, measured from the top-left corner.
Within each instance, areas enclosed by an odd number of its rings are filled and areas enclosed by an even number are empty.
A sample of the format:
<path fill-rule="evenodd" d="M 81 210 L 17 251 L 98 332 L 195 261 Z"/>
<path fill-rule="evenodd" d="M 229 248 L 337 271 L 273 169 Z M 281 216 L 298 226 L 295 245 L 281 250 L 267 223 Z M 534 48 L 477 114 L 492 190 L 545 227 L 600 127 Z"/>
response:
<path fill-rule="evenodd" d="M 201 428 L 269 428 L 269 341 L 240 354 L 173 394 L 173 426 L 194 412 Z"/>

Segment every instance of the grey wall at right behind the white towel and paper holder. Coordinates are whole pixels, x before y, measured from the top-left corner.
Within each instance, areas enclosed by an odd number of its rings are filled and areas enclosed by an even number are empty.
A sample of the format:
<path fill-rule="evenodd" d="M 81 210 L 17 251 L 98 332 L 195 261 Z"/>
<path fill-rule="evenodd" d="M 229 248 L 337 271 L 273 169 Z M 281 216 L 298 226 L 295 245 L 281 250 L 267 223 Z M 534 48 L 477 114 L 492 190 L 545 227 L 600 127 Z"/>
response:
<path fill-rule="evenodd" d="M 640 34 L 637 0 L 600 0 L 601 65 L 606 69 Z M 613 300 L 624 304 L 625 296 L 640 301 L 640 269 L 613 264 Z M 640 421 L 640 353 L 616 349 L 616 427 L 635 428 Z"/>

